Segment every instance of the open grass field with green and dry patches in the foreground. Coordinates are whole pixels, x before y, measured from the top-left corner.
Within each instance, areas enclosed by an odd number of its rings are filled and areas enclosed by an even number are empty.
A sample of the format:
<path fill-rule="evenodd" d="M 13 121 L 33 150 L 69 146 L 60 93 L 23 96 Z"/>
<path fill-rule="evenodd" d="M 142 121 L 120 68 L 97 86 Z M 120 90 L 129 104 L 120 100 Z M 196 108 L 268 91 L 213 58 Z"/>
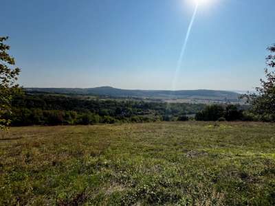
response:
<path fill-rule="evenodd" d="M 12 128 L 0 205 L 275 205 L 275 125 Z"/>

